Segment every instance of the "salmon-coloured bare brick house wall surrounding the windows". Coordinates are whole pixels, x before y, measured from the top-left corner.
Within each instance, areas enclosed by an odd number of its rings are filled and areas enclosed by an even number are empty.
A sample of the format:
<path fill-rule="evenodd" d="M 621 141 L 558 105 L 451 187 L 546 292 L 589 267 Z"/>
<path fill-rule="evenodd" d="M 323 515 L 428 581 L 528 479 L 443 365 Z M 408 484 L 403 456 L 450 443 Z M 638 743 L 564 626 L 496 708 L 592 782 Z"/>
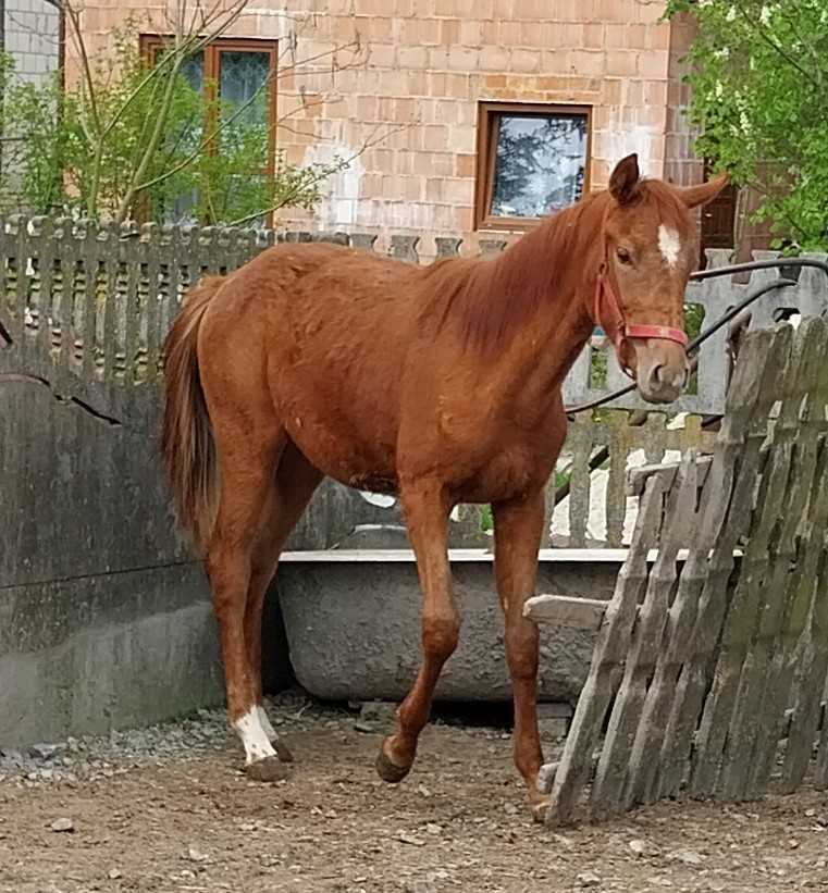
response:
<path fill-rule="evenodd" d="M 168 5 L 89 0 L 90 49 L 131 14 L 141 29 L 169 29 Z M 479 100 L 592 106 L 593 189 L 631 151 L 650 175 L 680 164 L 689 142 L 667 113 L 675 48 L 663 10 L 645 0 L 251 0 L 231 33 L 283 40 L 279 145 L 291 161 L 350 157 L 391 131 L 331 178 L 311 225 L 467 235 Z M 302 63 L 357 37 L 360 66 Z M 72 76 L 71 46 L 67 54 Z M 281 220 L 307 222 L 295 211 Z"/>

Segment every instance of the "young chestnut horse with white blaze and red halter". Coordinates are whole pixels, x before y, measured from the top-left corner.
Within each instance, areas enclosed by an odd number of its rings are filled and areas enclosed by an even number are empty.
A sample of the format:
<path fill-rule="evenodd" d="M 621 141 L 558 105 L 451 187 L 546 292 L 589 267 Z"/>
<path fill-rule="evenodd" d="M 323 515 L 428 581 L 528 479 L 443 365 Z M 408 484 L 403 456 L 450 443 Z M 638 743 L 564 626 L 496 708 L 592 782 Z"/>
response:
<path fill-rule="evenodd" d="M 681 393 L 684 288 L 699 255 L 690 209 L 725 182 L 641 179 L 630 156 L 607 191 L 496 259 L 420 268 L 337 245 L 282 245 L 191 290 L 165 344 L 163 450 L 178 518 L 206 558 L 230 722 L 251 778 L 281 778 L 291 758 L 261 706 L 262 599 L 329 475 L 398 494 L 417 556 L 422 662 L 380 749 L 388 782 L 411 768 L 457 644 L 449 513 L 492 504 L 515 764 L 543 815 L 537 630 L 523 601 L 566 435 L 561 384 L 601 324 L 645 400 Z"/>

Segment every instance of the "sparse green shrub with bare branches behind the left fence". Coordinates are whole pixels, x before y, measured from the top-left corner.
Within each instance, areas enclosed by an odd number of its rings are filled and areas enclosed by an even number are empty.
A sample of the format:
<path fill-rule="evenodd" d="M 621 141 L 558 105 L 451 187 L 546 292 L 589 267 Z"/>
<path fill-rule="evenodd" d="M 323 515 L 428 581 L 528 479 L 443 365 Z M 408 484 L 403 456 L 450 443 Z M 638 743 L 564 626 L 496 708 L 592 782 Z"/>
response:
<path fill-rule="evenodd" d="M 78 10 L 54 0 L 81 61 L 67 90 L 55 77 L 40 84 L 0 62 L 2 82 L 2 210 L 70 213 L 92 220 L 196 218 L 211 224 L 261 222 L 285 207 L 311 209 L 324 182 L 349 158 L 288 164 L 272 151 L 263 109 L 264 79 L 245 101 L 196 88 L 188 65 L 238 17 L 247 0 L 203 7 L 182 0 L 172 36 L 150 62 L 139 51 L 135 22 L 113 36 L 108 52 L 86 50 Z M 359 40 L 323 52 L 333 73 L 364 62 Z M 295 54 L 291 70 L 301 70 Z M 209 87 L 210 85 L 208 85 Z"/>

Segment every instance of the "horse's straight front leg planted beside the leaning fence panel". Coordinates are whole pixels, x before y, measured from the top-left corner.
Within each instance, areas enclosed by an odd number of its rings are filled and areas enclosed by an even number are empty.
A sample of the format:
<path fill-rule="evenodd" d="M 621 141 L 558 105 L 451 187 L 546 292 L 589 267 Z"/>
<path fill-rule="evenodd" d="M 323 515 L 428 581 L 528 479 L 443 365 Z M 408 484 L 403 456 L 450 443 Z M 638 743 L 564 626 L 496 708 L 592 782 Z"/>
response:
<path fill-rule="evenodd" d="M 526 781 L 532 813 L 543 821 L 548 805 L 539 790 L 543 764 L 537 732 L 537 627 L 523 617 L 534 594 L 537 550 L 545 517 L 544 492 L 492 507 L 495 530 L 495 575 L 506 625 L 506 657 L 515 700 L 515 766 Z"/>

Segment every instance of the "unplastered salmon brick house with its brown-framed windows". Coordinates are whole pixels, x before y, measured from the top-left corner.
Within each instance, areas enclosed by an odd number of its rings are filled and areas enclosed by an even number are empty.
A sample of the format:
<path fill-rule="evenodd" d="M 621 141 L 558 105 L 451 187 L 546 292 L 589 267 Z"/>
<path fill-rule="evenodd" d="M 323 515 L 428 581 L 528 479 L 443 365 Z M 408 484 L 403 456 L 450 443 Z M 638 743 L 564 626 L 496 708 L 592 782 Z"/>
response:
<path fill-rule="evenodd" d="M 685 22 L 660 0 L 251 0 L 202 60 L 244 97 L 275 73 L 262 103 L 294 162 L 351 157 L 310 224 L 428 235 L 520 232 L 639 153 L 646 174 L 703 175 L 681 115 Z M 170 0 L 86 0 L 92 51 L 136 16 L 144 39 L 169 30 Z M 358 39 L 363 58 L 332 71 Z M 339 53 L 348 59 L 347 51 Z M 311 60 L 311 61 L 308 61 Z M 316 60 L 316 61 L 313 61 Z M 75 63 L 67 46 L 69 76 Z M 383 128 L 391 132 L 378 139 Z M 308 224 L 301 212 L 281 223 Z M 705 219 L 708 244 L 732 208 Z M 714 232 L 718 228 L 722 232 Z"/>

